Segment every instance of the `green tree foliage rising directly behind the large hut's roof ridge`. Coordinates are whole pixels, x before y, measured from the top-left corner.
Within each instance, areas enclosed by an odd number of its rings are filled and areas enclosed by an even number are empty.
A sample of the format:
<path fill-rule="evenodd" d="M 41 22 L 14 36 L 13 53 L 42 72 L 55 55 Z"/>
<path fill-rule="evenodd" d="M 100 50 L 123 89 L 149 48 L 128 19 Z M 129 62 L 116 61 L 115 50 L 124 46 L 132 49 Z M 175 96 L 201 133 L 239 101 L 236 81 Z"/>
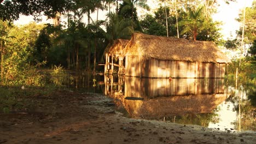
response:
<path fill-rule="evenodd" d="M 188 7 L 186 13 L 183 8 L 177 10 L 179 37 L 187 39 L 215 41 L 219 43 L 222 35 L 219 33 L 218 26 L 220 22 L 214 22 L 211 17 L 203 14 L 204 7 L 200 7 L 194 11 Z M 170 8 L 166 8 L 168 35 L 177 37 L 177 23 L 176 15 L 172 14 Z M 144 33 L 152 35 L 166 36 L 166 16 L 165 8 L 160 7 L 154 12 L 154 15 L 147 14 L 144 19 L 140 21 L 140 25 Z"/>

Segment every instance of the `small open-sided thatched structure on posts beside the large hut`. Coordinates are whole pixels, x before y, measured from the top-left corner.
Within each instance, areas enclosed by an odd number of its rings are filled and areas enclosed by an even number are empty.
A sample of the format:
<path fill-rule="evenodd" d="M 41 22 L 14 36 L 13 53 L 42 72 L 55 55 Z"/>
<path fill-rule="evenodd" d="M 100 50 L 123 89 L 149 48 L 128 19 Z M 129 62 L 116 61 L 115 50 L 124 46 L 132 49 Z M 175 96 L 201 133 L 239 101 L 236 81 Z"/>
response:
<path fill-rule="evenodd" d="M 119 74 L 124 71 L 123 59 L 124 59 L 124 48 L 127 45 L 129 40 L 126 39 L 117 39 L 114 41 L 113 45 L 109 47 L 108 52 L 106 52 L 106 65 L 105 65 L 105 74 L 109 72 L 113 73 L 114 66 L 119 67 Z M 110 61 L 111 57 L 111 61 Z M 118 64 L 114 63 L 114 58 L 119 59 Z M 111 65 L 111 69 L 109 67 Z"/>

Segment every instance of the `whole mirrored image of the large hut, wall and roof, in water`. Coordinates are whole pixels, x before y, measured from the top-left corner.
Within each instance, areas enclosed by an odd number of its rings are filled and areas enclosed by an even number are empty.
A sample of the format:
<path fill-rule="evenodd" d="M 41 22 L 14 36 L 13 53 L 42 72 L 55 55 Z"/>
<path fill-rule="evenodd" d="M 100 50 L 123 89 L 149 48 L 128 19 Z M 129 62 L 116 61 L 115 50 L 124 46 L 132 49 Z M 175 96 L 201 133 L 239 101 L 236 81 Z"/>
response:
<path fill-rule="evenodd" d="M 125 77 L 123 103 L 126 110 L 135 117 L 158 118 L 185 113 L 210 113 L 225 99 L 223 79 L 168 81 Z"/>

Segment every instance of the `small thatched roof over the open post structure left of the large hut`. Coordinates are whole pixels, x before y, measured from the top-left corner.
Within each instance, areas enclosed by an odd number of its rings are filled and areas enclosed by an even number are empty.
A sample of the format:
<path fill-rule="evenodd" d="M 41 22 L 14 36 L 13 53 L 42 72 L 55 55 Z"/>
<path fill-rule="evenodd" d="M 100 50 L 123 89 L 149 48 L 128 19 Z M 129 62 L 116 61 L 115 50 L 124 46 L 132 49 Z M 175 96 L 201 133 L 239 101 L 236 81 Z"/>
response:
<path fill-rule="evenodd" d="M 109 48 L 108 54 L 122 55 L 123 49 L 125 48 L 128 42 L 129 40 L 126 40 L 126 39 L 115 40 L 113 45 Z"/>

